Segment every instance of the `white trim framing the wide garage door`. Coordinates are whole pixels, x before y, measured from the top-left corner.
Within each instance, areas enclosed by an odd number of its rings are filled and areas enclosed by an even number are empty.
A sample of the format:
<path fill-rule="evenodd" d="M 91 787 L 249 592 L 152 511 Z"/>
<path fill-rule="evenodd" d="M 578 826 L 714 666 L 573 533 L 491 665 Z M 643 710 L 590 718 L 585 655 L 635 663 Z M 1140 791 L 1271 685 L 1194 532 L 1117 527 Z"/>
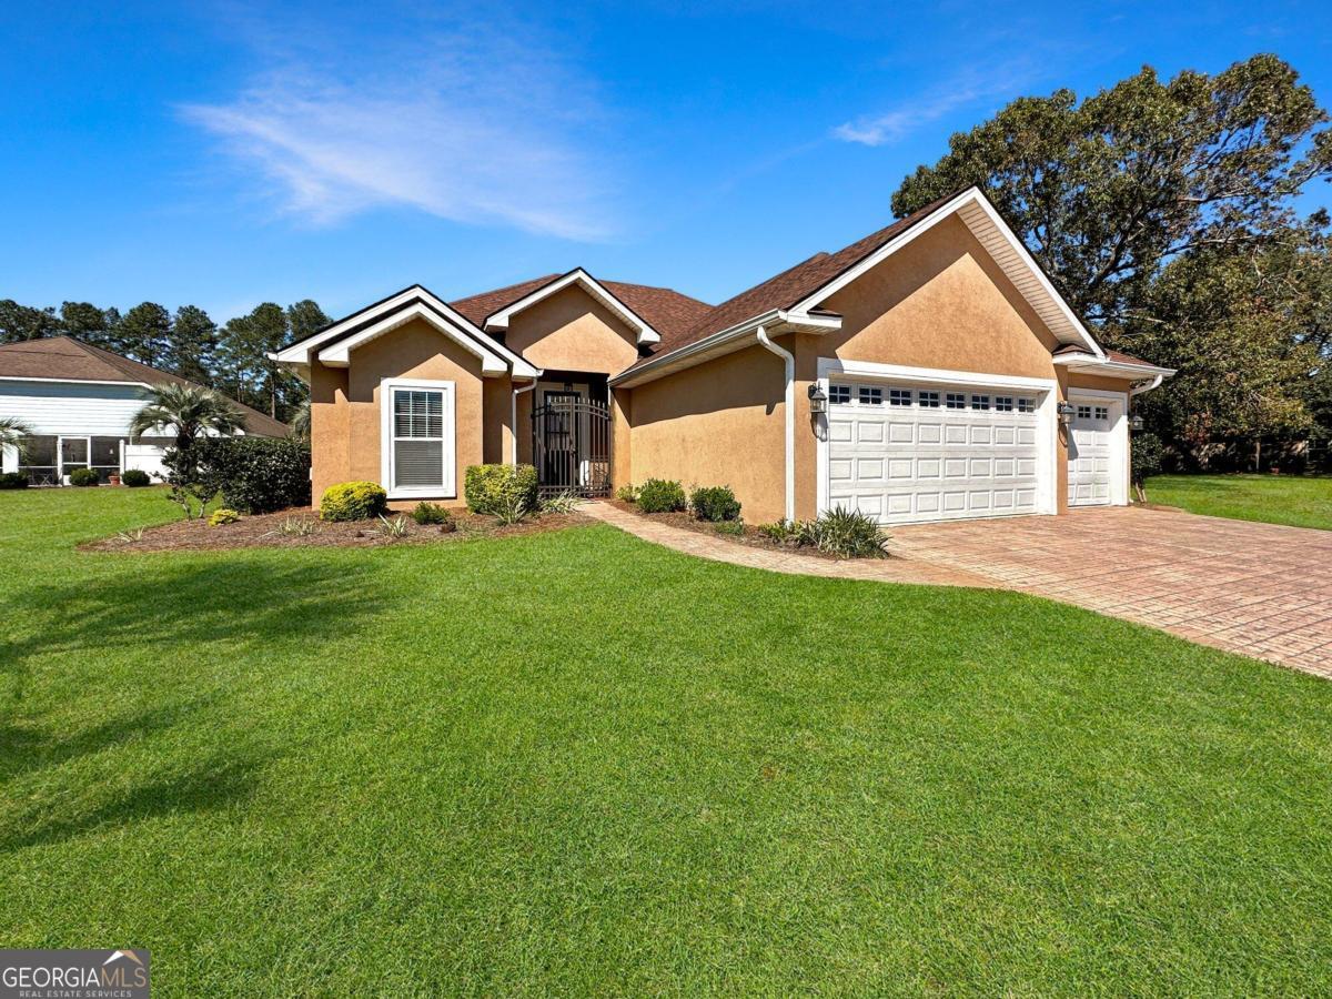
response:
<path fill-rule="evenodd" d="M 838 357 L 821 357 L 818 364 L 818 384 L 825 396 L 830 396 L 831 378 L 855 378 L 858 381 L 898 381 L 914 385 L 942 384 L 964 385 L 968 388 L 1010 389 L 1036 394 L 1036 513 L 1054 514 L 1059 510 L 1058 500 L 1058 384 L 1054 378 L 1028 378 L 1011 374 L 983 374 L 978 372 L 954 372 L 939 368 L 910 368 L 904 365 L 878 364 L 872 361 L 846 361 Z M 829 510 L 829 420 L 819 417 L 815 446 L 817 510 Z"/>

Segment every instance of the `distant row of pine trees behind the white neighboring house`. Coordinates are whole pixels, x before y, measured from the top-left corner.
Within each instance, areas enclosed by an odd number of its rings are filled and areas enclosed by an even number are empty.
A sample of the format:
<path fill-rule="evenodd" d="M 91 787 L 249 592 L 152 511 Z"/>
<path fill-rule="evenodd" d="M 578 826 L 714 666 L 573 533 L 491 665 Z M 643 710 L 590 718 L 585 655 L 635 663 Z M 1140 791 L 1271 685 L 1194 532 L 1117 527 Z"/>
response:
<path fill-rule="evenodd" d="M 286 308 L 264 302 L 220 326 L 197 305 L 169 312 L 157 302 L 140 302 L 121 313 L 91 302 L 64 302 L 55 309 L 0 300 L 0 344 L 76 337 L 217 389 L 284 422 L 305 401 L 306 388 L 268 353 L 328 322 L 329 317 L 309 298 Z"/>

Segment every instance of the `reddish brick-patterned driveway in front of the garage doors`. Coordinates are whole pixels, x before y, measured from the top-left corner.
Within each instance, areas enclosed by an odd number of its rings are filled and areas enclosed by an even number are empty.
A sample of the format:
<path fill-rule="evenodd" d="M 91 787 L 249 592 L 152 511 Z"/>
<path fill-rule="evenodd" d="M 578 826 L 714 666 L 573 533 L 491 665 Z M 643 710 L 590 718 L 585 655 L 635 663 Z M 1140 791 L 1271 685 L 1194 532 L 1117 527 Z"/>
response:
<path fill-rule="evenodd" d="M 910 558 L 1332 678 L 1332 531 L 1114 507 L 892 538 Z"/>

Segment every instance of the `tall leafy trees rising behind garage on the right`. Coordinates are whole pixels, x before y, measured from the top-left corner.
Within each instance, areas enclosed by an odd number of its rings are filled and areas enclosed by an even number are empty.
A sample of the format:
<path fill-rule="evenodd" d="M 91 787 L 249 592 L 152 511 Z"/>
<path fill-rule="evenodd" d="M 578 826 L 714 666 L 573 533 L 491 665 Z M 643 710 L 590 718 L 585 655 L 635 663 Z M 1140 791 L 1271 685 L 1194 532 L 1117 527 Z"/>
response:
<path fill-rule="evenodd" d="M 978 184 L 1108 348 L 1176 368 L 1135 401 L 1179 465 L 1327 462 L 1332 132 L 1276 56 L 1086 100 L 1022 97 L 906 177 L 898 214 Z"/>

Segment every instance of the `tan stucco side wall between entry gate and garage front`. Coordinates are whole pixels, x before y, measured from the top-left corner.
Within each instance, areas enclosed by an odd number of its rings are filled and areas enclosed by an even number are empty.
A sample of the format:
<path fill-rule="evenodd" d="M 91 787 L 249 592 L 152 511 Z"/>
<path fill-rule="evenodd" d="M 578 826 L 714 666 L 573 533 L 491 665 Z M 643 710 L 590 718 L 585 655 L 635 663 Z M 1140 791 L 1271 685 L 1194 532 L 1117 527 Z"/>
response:
<path fill-rule="evenodd" d="M 729 485 L 750 523 L 783 515 L 781 358 L 754 346 L 639 385 L 630 393 L 629 416 L 633 482 Z"/>

